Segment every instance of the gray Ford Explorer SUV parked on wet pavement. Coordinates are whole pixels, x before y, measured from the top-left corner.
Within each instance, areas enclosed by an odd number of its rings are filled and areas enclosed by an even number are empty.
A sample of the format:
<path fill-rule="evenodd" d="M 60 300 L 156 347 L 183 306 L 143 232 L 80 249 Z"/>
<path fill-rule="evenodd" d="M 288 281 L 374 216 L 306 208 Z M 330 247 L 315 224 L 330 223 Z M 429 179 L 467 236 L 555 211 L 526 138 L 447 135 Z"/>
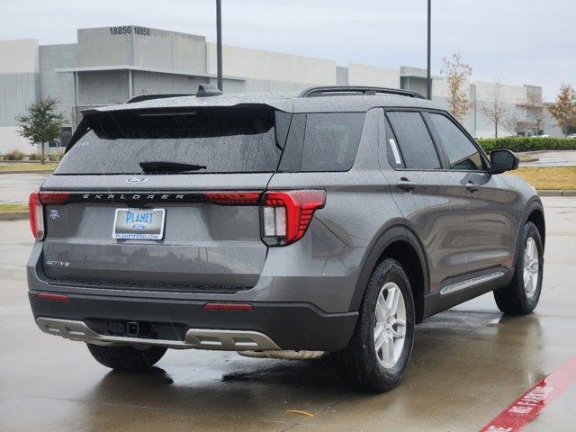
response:
<path fill-rule="evenodd" d="M 414 326 L 483 293 L 525 314 L 545 242 L 534 188 L 403 90 L 146 95 L 87 110 L 31 194 L 40 329 L 112 369 L 167 348 L 323 356 L 400 382 Z"/>

